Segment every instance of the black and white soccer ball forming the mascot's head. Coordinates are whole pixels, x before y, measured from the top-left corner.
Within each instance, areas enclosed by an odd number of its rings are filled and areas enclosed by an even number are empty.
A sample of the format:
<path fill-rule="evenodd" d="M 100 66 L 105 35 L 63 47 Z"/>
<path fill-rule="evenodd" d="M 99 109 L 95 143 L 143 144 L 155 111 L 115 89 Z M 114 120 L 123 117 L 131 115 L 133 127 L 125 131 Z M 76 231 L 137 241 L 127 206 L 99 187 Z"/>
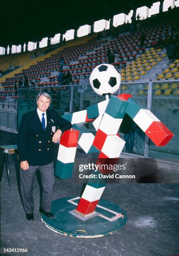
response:
<path fill-rule="evenodd" d="M 110 95 L 120 87 L 120 73 L 111 64 L 100 64 L 90 74 L 92 89 L 99 95 Z"/>

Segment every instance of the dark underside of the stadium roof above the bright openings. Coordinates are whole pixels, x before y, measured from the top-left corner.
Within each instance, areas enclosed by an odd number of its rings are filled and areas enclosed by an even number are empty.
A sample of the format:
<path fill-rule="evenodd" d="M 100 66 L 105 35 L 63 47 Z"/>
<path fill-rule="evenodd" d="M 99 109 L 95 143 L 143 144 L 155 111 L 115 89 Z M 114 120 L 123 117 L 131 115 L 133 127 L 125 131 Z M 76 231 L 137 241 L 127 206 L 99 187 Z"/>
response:
<path fill-rule="evenodd" d="M 109 20 L 119 13 L 142 6 L 151 7 L 156 0 L 77 0 L 77 1 L 6 1 L 0 4 L 0 46 L 41 41 L 69 29 L 77 30 L 96 20 Z"/>

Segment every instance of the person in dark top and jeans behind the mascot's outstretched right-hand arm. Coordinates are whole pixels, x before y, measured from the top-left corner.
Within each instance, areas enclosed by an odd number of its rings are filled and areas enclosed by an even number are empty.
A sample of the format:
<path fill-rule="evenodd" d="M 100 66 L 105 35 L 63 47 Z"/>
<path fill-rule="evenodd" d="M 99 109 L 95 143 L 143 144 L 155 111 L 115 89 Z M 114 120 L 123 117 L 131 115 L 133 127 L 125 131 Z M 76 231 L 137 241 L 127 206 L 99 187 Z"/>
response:
<path fill-rule="evenodd" d="M 125 150 L 129 153 L 134 153 L 134 122 L 128 114 L 124 115 L 123 121 L 120 125 L 120 132 L 124 133 Z"/>

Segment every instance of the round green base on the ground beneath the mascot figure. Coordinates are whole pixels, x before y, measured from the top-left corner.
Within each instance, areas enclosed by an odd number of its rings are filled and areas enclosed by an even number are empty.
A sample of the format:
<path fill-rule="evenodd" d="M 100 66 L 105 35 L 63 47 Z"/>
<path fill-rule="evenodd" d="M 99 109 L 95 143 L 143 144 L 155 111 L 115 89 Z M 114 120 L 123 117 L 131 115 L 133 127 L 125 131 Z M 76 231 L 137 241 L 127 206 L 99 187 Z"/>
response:
<path fill-rule="evenodd" d="M 97 238 L 112 235 L 125 225 L 125 211 L 112 202 L 101 199 L 96 211 L 82 217 L 74 210 L 80 197 L 65 197 L 52 202 L 51 212 L 54 218 L 47 218 L 43 213 L 41 220 L 47 228 L 64 236 L 74 238 Z"/>

